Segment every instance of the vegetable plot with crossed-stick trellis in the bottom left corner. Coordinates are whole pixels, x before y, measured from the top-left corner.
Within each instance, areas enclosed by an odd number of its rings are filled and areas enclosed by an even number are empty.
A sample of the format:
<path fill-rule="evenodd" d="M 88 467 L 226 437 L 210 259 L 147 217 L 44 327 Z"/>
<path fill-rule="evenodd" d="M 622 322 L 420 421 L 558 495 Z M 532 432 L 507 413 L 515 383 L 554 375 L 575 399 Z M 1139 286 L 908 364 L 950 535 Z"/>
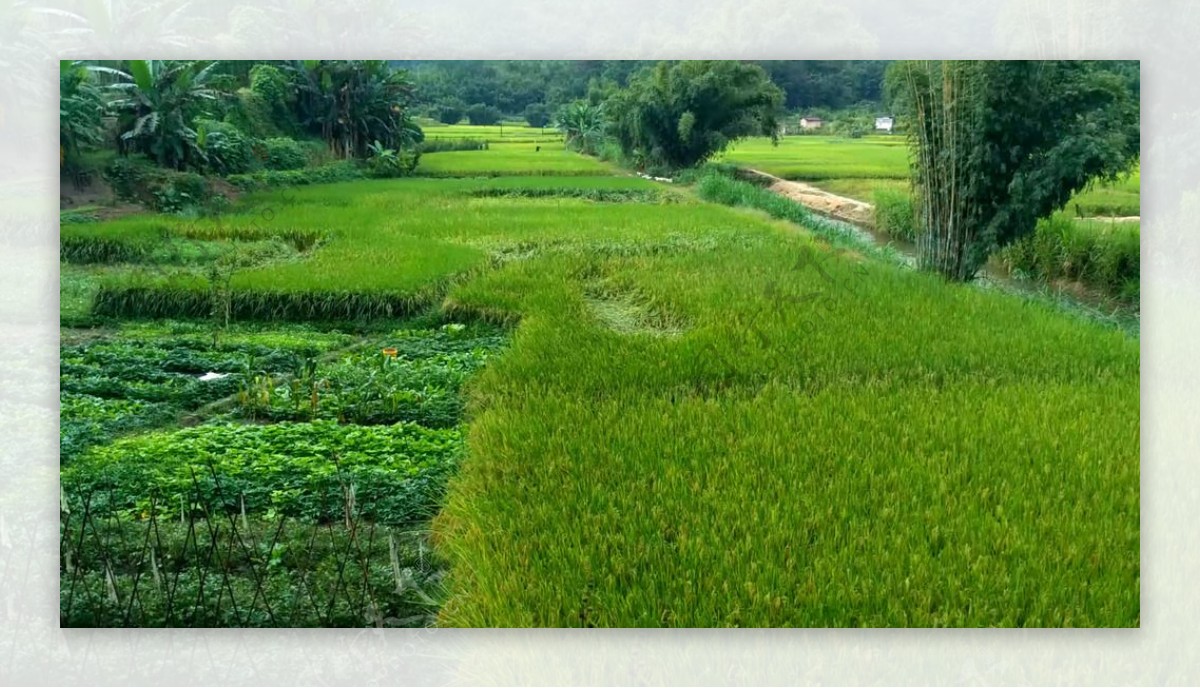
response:
<path fill-rule="evenodd" d="M 62 522 L 64 627 L 422 627 L 437 614 L 443 564 L 410 528 L 199 509 Z"/>

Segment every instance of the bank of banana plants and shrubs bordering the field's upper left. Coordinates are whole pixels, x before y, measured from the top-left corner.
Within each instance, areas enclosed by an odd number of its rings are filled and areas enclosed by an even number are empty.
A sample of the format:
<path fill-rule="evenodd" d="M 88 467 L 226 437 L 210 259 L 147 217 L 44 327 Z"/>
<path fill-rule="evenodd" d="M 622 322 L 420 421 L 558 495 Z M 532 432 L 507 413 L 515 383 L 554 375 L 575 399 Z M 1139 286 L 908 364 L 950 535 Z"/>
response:
<path fill-rule="evenodd" d="M 211 214 L 224 209 L 224 198 L 197 174 L 356 158 L 368 162 L 365 172 L 392 177 L 412 173 L 419 160 L 424 132 L 409 116 L 412 83 L 383 61 L 107 64 L 120 68 L 61 64 L 61 169 L 79 189 L 103 170 L 118 199 Z M 115 138 L 106 133 L 106 115 L 114 115 Z M 377 143 L 395 154 L 372 151 Z M 314 175 L 329 179 L 328 170 Z"/>

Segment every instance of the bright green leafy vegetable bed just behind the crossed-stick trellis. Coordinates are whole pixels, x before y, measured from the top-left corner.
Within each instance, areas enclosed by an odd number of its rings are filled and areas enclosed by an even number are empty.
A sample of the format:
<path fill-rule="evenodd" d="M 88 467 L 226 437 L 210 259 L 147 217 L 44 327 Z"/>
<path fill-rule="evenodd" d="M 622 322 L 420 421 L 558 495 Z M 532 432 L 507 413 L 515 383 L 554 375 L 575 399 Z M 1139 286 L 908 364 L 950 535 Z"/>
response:
<path fill-rule="evenodd" d="M 403 525 L 432 515 L 461 451 L 457 430 L 415 424 L 214 424 L 94 447 L 62 469 L 62 487 L 131 515 L 157 498 L 170 516 L 198 483 L 210 509 L 235 514 L 245 503 L 328 522 L 343 515 L 343 484 L 353 484 L 359 514 Z"/>

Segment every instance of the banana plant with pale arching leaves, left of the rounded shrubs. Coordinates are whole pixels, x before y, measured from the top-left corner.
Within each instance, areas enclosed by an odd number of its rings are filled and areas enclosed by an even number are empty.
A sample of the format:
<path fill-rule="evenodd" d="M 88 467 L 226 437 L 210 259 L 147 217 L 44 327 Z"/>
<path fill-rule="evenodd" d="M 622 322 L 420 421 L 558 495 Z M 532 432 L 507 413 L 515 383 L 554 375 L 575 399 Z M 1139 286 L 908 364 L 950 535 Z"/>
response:
<path fill-rule="evenodd" d="M 115 72 L 121 142 L 163 167 L 182 169 L 202 157 L 192 120 L 217 100 L 209 86 L 215 61 L 130 60 L 130 72 Z"/>

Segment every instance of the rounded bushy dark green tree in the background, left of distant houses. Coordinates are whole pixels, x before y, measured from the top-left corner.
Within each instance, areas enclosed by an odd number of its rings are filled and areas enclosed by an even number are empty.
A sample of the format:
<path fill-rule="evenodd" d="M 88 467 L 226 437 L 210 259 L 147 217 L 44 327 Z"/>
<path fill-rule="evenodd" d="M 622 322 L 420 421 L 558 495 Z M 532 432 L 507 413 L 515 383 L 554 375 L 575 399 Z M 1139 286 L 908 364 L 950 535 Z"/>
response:
<path fill-rule="evenodd" d="M 784 92 L 757 65 L 659 62 L 605 103 L 625 156 L 692 167 L 748 136 L 775 137 Z"/>

